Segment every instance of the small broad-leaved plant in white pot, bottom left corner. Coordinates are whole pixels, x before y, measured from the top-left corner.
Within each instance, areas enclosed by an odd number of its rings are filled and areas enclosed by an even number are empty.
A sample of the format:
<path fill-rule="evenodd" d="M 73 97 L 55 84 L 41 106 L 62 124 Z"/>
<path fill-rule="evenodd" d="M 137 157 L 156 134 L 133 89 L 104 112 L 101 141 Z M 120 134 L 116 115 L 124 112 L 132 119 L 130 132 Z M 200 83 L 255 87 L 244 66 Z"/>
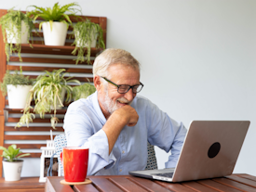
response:
<path fill-rule="evenodd" d="M 3 160 L 3 167 L 6 181 L 18 181 L 20 180 L 20 173 L 23 165 L 23 160 L 19 158 L 29 156 L 29 153 L 21 154 L 20 148 L 16 145 L 11 145 L 8 148 L 0 146 L 0 150 L 3 150 L 2 157 L 7 160 Z"/>

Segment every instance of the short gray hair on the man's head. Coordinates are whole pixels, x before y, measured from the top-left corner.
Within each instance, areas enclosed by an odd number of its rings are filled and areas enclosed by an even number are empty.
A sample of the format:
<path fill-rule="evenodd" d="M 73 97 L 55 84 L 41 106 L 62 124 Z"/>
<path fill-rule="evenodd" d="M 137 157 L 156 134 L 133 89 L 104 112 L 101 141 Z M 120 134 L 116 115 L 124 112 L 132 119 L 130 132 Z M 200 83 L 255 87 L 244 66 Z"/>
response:
<path fill-rule="evenodd" d="M 135 70 L 140 70 L 140 63 L 136 58 L 133 58 L 128 51 L 123 49 L 109 48 L 104 50 L 93 63 L 93 77 L 99 75 L 108 77 L 108 68 L 115 63 L 128 65 Z"/>

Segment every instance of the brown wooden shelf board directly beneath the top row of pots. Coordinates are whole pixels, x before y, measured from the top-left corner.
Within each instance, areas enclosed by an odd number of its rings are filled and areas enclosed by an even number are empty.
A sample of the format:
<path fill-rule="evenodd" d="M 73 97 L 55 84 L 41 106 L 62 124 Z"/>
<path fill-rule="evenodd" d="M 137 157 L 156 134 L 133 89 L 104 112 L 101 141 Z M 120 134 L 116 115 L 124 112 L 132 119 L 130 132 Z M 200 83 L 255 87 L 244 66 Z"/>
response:
<path fill-rule="evenodd" d="M 85 48 L 86 49 L 86 48 Z M 73 56 L 72 51 L 74 46 L 50 46 L 50 45 L 33 45 L 33 48 L 28 44 L 21 45 L 21 53 L 34 53 L 34 54 L 49 54 L 49 55 L 68 55 Z M 102 49 L 91 48 L 91 57 L 95 57 Z M 87 51 L 85 52 L 85 55 Z"/>

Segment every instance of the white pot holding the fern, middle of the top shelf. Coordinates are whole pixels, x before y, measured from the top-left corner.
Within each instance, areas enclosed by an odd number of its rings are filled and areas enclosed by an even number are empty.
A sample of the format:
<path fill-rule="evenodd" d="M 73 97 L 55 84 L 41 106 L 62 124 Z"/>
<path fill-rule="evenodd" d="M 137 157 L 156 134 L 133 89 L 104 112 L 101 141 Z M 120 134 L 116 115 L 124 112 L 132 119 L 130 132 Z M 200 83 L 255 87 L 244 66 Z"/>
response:
<path fill-rule="evenodd" d="M 67 36 L 67 25 L 62 22 L 53 22 L 52 30 L 49 22 L 42 24 L 44 32 L 45 45 L 63 46 Z"/>

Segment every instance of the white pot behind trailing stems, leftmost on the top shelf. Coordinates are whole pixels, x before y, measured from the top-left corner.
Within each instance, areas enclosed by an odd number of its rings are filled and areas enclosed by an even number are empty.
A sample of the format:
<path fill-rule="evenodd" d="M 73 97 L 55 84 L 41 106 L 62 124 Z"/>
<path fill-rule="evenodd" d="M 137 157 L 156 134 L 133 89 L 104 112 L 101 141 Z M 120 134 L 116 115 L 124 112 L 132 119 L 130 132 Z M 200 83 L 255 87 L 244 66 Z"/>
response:
<path fill-rule="evenodd" d="M 24 21 L 21 20 L 21 38 L 18 39 L 18 30 L 17 27 L 13 27 L 13 32 L 7 30 L 7 43 L 8 44 L 27 44 L 28 39 L 28 28 L 25 25 Z"/>

